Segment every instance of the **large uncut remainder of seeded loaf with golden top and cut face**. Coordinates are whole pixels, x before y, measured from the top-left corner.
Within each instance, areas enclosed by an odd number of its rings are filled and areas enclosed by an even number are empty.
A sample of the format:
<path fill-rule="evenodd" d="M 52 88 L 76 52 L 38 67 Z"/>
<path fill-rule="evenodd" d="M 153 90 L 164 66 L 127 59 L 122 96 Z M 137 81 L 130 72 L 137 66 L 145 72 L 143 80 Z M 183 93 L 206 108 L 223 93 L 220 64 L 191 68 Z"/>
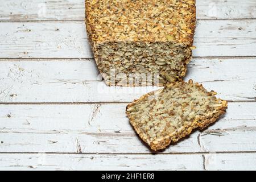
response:
<path fill-rule="evenodd" d="M 86 27 L 107 85 L 181 80 L 192 56 L 195 0 L 86 0 Z"/>

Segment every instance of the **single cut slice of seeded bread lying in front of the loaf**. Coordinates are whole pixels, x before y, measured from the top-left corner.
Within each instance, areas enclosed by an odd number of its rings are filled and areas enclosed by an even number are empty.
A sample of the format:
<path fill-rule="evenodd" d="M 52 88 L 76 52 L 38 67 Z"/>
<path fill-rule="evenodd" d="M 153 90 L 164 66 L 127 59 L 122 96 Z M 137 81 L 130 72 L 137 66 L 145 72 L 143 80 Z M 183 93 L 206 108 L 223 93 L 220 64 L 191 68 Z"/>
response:
<path fill-rule="evenodd" d="M 175 82 L 129 104 L 126 114 L 139 137 L 152 150 L 162 150 L 225 113 L 228 103 L 217 99 L 216 94 L 192 80 Z"/>

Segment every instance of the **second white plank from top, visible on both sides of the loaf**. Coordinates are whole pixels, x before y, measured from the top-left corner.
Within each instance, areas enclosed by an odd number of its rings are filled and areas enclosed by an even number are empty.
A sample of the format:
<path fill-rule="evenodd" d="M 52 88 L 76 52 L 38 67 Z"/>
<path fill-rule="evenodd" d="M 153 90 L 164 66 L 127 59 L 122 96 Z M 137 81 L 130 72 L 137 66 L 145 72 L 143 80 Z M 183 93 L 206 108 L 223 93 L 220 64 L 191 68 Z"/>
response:
<path fill-rule="evenodd" d="M 196 57 L 256 56 L 256 20 L 199 20 Z M 2 22 L 2 58 L 92 58 L 84 22 Z M 250 45 L 250 46 L 248 46 Z"/>

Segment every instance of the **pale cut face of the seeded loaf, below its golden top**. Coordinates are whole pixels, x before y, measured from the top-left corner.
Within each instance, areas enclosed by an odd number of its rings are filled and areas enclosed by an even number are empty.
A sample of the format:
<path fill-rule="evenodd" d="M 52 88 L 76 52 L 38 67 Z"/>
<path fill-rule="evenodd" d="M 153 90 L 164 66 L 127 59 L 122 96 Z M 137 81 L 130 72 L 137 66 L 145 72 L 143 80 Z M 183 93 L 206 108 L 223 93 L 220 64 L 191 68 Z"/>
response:
<path fill-rule="evenodd" d="M 94 55 L 109 86 L 163 86 L 185 76 L 192 52 L 172 42 L 108 42 Z"/>

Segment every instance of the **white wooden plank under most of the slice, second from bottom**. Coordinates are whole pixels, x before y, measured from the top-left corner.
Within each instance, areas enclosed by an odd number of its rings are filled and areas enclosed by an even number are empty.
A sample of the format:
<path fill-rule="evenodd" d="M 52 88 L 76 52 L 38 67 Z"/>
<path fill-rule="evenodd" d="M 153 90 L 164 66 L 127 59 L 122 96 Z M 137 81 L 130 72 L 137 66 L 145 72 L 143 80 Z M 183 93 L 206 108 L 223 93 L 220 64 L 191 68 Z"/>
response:
<path fill-rule="evenodd" d="M 0 105 L 0 152 L 150 153 L 130 126 L 125 107 Z M 163 152 L 254 152 L 255 113 L 255 102 L 230 102 L 220 121 Z"/>

